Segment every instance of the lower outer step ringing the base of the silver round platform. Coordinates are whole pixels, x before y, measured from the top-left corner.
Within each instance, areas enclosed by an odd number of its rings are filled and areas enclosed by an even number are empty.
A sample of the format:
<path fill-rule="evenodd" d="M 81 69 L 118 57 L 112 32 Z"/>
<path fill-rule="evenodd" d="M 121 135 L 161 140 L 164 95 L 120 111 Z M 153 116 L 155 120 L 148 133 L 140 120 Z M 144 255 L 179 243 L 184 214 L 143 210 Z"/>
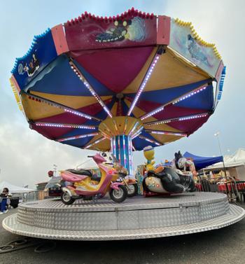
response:
<path fill-rule="evenodd" d="M 196 232 L 216 230 L 225 226 L 237 223 L 245 216 L 245 210 L 241 207 L 230 204 L 230 212 L 218 218 L 191 223 L 188 225 L 176 225 L 165 228 L 148 228 L 137 230 L 104 230 L 104 231 L 70 231 L 70 230 L 50 230 L 47 228 L 37 228 L 30 225 L 18 223 L 17 214 L 12 214 L 3 219 L 3 228 L 8 232 L 27 237 L 37 237 L 42 239 L 59 240 L 127 240 L 127 239 L 147 239 L 154 237 L 170 237 L 175 235 L 187 235 Z"/>

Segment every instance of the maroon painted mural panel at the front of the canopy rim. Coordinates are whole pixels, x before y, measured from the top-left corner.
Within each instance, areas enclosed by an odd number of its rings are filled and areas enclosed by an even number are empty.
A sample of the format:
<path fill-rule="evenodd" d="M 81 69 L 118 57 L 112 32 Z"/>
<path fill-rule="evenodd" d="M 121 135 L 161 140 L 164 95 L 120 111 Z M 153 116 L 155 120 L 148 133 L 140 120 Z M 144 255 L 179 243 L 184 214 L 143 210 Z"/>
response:
<path fill-rule="evenodd" d="M 155 45 L 156 17 L 126 15 L 111 22 L 85 18 L 64 25 L 69 50 Z"/>

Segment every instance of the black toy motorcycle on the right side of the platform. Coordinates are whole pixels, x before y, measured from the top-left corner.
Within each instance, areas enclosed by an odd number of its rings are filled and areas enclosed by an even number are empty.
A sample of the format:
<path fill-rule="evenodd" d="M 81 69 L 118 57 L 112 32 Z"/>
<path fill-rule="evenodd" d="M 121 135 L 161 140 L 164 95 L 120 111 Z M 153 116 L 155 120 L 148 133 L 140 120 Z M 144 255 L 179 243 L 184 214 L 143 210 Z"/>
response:
<path fill-rule="evenodd" d="M 143 180 L 144 195 L 170 195 L 195 191 L 195 182 L 191 172 L 181 172 L 172 167 L 160 166 L 155 171 L 148 171 Z"/>

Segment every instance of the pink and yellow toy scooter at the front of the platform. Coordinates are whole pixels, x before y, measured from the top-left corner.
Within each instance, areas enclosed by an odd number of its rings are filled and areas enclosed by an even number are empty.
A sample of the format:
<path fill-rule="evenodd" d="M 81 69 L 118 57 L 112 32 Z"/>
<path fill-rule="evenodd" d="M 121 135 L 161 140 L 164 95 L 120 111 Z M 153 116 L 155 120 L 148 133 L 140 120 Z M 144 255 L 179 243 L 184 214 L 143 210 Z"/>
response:
<path fill-rule="evenodd" d="M 104 197 L 106 193 L 109 193 L 114 202 L 123 202 L 127 197 L 127 188 L 122 182 L 117 181 L 119 177 L 117 170 L 111 164 L 106 163 L 106 159 L 98 153 L 87 157 L 93 158 L 99 166 L 102 174 L 100 181 L 93 184 L 90 176 L 62 171 L 62 180 L 69 183 L 62 188 L 62 202 L 72 204 L 76 199 L 83 197 L 92 197 L 95 201 L 99 197 Z"/>

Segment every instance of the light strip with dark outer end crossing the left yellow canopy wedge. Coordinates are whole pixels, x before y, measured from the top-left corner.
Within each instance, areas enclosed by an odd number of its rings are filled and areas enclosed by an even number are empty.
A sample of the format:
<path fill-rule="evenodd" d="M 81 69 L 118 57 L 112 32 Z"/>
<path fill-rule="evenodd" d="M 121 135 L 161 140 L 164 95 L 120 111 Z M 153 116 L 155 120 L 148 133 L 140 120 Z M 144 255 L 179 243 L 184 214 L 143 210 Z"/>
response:
<path fill-rule="evenodd" d="M 94 119 L 94 120 L 97 120 L 97 121 L 102 121 L 99 118 L 95 118 L 93 116 L 87 115 L 86 113 L 82 113 L 80 111 L 76 111 L 75 109 L 72 109 L 71 107 L 64 106 L 64 105 L 58 104 L 56 102 L 52 102 L 52 101 L 50 101 L 48 99 L 45 99 L 43 97 L 39 97 L 39 96 L 36 96 L 36 95 L 29 95 L 26 92 L 25 92 L 25 95 L 28 95 L 28 99 L 30 99 L 30 100 L 34 100 L 34 101 L 39 102 L 39 103 L 43 102 L 45 104 L 50 104 L 51 106 L 57 107 L 59 109 L 62 109 L 65 112 L 73 113 L 73 115 L 80 116 L 80 117 L 83 117 L 83 118 L 87 118 L 87 119 L 90 119 L 90 120 Z"/>

